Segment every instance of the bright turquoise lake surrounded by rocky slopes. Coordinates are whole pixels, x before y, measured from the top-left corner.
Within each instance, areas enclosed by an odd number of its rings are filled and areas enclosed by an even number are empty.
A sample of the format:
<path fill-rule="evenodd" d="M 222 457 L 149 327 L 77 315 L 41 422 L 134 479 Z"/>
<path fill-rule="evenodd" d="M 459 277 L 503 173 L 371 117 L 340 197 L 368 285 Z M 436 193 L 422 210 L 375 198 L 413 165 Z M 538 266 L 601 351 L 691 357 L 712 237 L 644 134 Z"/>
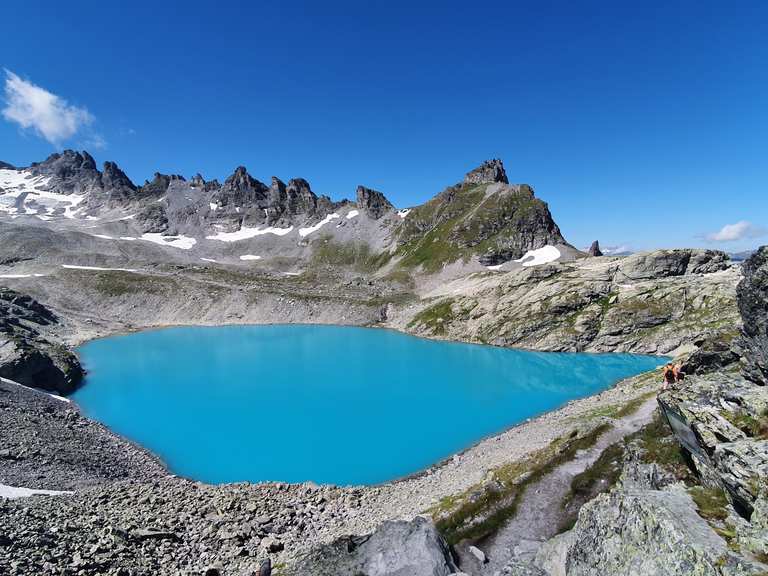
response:
<path fill-rule="evenodd" d="M 89 342 L 82 410 L 181 476 L 374 484 L 655 368 L 341 326 L 150 330 Z"/>

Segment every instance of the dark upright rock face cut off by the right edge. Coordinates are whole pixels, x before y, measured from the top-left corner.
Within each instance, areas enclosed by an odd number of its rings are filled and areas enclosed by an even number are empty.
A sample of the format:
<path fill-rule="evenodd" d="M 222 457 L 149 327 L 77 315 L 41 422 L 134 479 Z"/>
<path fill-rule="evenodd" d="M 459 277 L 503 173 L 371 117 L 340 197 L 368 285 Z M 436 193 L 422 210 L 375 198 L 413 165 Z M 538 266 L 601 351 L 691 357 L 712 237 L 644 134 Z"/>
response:
<path fill-rule="evenodd" d="M 758 384 L 768 383 L 768 246 L 743 264 L 744 278 L 736 289 L 744 322 L 740 347 L 744 376 Z"/>

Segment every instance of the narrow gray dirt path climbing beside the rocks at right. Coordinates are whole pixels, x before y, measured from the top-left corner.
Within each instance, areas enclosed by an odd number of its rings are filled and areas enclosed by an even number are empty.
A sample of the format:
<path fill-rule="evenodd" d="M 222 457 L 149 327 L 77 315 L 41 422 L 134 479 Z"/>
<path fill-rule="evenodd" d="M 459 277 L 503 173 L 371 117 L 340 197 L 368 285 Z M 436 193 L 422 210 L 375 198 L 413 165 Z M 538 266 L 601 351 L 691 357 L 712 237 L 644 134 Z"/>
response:
<path fill-rule="evenodd" d="M 488 558 L 481 565 L 466 547 L 458 552 L 461 567 L 472 575 L 493 575 L 500 572 L 512 560 L 530 561 L 539 546 L 555 535 L 563 517 L 562 502 L 568 493 L 571 480 L 589 468 L 609 445 L 636 432 L 650 422 L 655 410 L 656 398 L 645 402 L 636 412 L 613 422 L 613 427 L 603 434 L 594 446 L 577 453 L 570 460 L 526 490 L 517 514 L 494 536 L 478 545 Z"/>

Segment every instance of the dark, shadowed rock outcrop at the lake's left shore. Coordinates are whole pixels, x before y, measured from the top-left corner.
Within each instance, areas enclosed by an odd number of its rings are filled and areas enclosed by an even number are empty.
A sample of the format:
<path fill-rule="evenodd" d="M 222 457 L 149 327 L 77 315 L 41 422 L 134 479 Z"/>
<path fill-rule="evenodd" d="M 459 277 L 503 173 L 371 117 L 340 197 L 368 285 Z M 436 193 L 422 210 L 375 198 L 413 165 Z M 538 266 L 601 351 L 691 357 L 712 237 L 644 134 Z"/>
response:
<path fill-rule="evenodd" d="M 83 378 L 77 356 L 41 331 L 58 318 L 23 294 L 0 287 L 0 376 L 66 394 Z"/>

